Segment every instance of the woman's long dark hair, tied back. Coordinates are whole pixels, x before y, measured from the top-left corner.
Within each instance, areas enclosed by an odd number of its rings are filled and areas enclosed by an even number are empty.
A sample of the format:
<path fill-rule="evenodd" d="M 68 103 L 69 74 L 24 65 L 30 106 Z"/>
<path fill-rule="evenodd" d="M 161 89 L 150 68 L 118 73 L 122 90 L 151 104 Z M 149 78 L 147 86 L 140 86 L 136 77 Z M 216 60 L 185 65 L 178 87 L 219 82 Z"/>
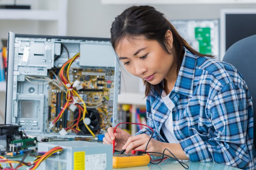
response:
<path fill-rule="evenodd" d="M 181 63 L 184 57 L 183 46 L 186 47 L 192 54 L 198 56 L 204 55 L 194 50 L 176 31 L 173 25 L 165 18 L 164 14 L 157 11 L 154 7 L 132 6 L 124 10 L 120 15 L 115 17 L 110 29 L 112 47 L 116 51 L 118 44 L 122 43 L 124 38 L 128 40 L 136 39 L 139 36 L 144 36 L 148 40 L 156 40 L 167 53 L 168 43 L 165 39 L 166 31 L 170 30 L 173 35 L 173 53 L 174 62 L 177 66 L 177 74 L 180 70 Z M 159 91 L 162 88 L 161 84 L 150 84 L 143 80 L 146 86 L 145 95 L 148 96 L 154 89 Z"/>

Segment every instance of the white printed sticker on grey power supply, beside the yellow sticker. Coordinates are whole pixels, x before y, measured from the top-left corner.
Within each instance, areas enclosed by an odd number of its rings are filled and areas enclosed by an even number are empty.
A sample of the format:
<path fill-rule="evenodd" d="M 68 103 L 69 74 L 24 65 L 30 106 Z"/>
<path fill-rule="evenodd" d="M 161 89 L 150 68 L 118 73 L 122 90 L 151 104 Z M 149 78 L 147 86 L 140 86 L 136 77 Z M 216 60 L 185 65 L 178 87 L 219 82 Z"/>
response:
<path fill-rule="evenodd" d="M 105 170 L 107 167 L 107 154 L 92 154 L 85 156 L 86 170 Z"/>

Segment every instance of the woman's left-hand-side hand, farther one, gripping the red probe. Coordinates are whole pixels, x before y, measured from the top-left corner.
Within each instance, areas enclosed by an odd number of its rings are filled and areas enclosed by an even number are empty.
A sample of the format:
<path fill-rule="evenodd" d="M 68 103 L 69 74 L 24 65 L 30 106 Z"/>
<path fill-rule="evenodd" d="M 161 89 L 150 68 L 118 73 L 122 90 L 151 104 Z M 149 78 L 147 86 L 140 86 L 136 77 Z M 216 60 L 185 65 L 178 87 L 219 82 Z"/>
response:
<path fill-rule="evenodd" d="M 119 127 L 116 128 L 116 133 L 114 133 L 114 127 L 109 127 L 108 132 L 105 133 L 105 137 L 103 138 L 103 143 L 112 145 L 112 141 L 116 139 L 115 149 L 122 150 L 122 147 L 127 142 L 128 138 L 131 136 L 131 134 L 122 130 Z"/>

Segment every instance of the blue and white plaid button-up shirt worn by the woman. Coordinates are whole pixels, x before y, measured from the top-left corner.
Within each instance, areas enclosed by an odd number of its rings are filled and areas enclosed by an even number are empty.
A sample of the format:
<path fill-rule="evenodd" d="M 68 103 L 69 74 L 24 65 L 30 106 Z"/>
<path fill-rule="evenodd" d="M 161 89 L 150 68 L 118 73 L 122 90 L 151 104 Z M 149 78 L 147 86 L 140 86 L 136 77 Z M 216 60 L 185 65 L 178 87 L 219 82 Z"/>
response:
<path fill-rule="evenodd" d="M 185 49 L 169 98 L 174 135 L 190 161 L 255 169 L 252 97 L 234 66 Z M 147 96 L 146 109 L 153 138 L 167 142 L 161 127 L 171 111 L 156 90 Z"/>

